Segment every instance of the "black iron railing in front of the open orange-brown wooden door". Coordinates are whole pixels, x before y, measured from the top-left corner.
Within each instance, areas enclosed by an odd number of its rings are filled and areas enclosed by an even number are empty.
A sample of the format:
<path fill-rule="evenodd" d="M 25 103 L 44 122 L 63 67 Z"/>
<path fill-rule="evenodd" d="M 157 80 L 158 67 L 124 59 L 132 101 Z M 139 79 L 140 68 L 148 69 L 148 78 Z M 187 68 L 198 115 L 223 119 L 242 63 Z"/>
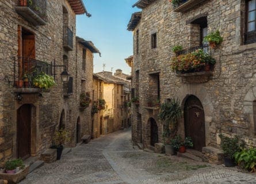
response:
<path fill-rule="evenodd" d="M 24 81 L 25 87 L 33 87 L 33 80 L 41 74 L 52 76 L 52 65 L 30 57 L 14 60 L 14 79 Z M 14 86 L 17 87 L 17 84 L 14 83 Z"/>

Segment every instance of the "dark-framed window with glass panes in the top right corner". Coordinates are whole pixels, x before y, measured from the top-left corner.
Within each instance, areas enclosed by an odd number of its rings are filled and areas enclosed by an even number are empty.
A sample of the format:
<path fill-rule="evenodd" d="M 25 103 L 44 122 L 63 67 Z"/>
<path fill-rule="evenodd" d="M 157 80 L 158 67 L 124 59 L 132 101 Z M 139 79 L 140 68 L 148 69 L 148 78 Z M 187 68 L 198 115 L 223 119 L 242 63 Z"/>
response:
<path fill-rule="evenodd" d="M 246 4 L 246 30 L 244 44 L 256 42 L 256 0 L 247 1 Z"/>

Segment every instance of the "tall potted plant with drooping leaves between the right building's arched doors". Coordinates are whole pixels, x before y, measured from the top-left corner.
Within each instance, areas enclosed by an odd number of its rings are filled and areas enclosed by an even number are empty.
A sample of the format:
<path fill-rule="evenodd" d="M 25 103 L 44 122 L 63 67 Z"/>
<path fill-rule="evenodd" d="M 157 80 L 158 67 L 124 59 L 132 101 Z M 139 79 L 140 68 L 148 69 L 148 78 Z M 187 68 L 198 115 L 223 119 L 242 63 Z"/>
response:
<path fill-rule="evenodd" d="M 163 141 L 166 144 L 166 155 L 174 155 L 175 140 L 173 139 L 177 133 L 178 120 L 181 118 L 181 106 L 178 99 L 167 99 L 158 114 L 159 119 L 163 122 Z"/>

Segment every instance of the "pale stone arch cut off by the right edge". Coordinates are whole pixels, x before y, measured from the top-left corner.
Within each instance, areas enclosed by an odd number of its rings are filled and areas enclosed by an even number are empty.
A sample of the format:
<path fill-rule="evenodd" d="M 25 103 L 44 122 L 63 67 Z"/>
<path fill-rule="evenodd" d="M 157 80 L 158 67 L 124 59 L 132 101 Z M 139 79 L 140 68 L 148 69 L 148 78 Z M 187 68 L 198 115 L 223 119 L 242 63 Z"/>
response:
<path fill-rule="evenodd" d="M 256 86 L 252 87 L 243 99 L 243 112 L 249 119 L 250 135 L 256 135 Z"/>

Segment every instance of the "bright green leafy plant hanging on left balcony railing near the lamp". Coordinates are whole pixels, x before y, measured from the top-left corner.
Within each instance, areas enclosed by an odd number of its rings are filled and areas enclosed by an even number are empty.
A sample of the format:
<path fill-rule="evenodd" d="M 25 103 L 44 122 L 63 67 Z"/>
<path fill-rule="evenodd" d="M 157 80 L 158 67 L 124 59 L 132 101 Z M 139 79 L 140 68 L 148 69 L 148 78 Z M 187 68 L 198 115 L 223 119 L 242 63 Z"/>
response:
<path fill-rule="evenodd" d="M 40 89 L 49 89 L 52 86 L 56 85 L 56 83 L 52 76 L 49 76 L 47 74 L 41 74 L 33 80 L 33 85 L 35 87 L 39 87 Z"/>

